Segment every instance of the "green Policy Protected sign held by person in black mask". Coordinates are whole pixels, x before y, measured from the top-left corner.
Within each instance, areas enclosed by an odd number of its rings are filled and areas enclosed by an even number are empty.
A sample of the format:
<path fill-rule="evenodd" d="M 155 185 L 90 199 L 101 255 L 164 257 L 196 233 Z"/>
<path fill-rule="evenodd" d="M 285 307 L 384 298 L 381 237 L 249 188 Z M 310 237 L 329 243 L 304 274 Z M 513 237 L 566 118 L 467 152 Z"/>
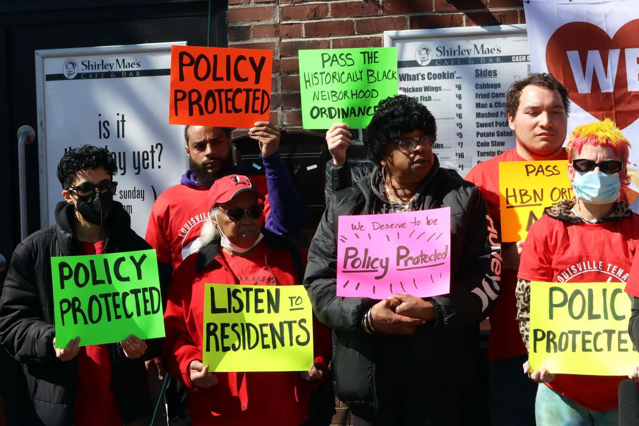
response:
<path fill-rule="evenodd" d="M 51 258 L 56 346 L 164 337 L 155 250 Z"/>

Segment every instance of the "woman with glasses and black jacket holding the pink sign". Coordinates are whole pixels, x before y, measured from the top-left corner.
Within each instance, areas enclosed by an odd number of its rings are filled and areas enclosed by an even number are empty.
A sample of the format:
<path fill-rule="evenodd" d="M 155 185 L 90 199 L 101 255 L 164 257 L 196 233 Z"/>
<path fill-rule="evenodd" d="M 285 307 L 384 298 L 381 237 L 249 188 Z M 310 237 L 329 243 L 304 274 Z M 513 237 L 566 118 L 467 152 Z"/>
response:
<path fill-rule="evenodd" d="M 350 137 L 343 123 L 327 132 L 329 146 L 348 146 Z M 374 169 L 357 185 L 332 195 L 309 249 L 304 285 L 318 319 L 334 330 L 334 390 L 350 405 L 356 426 L 461 424 L 463 395 L 474 375 L 479 323 L 499 293 L 500 241 L 486 203 L 475 185 L 440 167 L 433 153 L 435 141 L 435 118 L 415 98 L 397 95 L 382 100 L 364 133 Z M 343 255 L 345 240 L 338 234 L 340 217 L 378 215 L 377 222 L 390 229 L 404 223 L 390 225 L 392 213 L 439 208 L 450 209 L 450 227 L 438 229 L 438 234 L 450 233 L 449 249 L 411 254 L 411 262 L 447 257 L 447 293 L 413 296 L 410 292 L 416 287 L 411 280 L 394 283 L 388 297 L 374 289 L 360 297 L 357 290 L 350 297 L 339 295 L 337 270 L 348 268 L 338 257 L 349 255 Z M 388 261 L 365 256 L 362 262 L 387 268 L 408 259 L 406 250 L 390 240 L 387 248 Z M 414 268 L 412 278 L 415 284 L 426 284 L 427 270 L 419 268 Z M 357 287 L 348 282 L 339 287 L 344 285 Z"/>

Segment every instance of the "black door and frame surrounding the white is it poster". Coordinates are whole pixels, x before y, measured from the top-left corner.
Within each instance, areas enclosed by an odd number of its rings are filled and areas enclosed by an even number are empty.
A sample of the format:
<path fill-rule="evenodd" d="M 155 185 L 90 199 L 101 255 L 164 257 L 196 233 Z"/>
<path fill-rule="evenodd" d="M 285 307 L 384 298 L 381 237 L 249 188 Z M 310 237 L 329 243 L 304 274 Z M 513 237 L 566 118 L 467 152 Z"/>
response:
<path fill-rule="evenodd" d="M 20 241 L 16 133 L 22 125 L 36 130 L 36 140 L 26 149 L 27 230 L 31 233 L 40 227 L 35 50 L 180 40 L 189 45 L 206 46 L 207 41 L 211 46 L 227 45 L 226 2 L 21 0 L 11 3 L 14 4 L 0 5 L 0 182 L 4 188 L 0 203 L 0 254 L 7 262 Z M 85 4 L 78 6 L 81 3 Z M 0 282 L 2 280 L 4 273 L 0 273 Z"/>

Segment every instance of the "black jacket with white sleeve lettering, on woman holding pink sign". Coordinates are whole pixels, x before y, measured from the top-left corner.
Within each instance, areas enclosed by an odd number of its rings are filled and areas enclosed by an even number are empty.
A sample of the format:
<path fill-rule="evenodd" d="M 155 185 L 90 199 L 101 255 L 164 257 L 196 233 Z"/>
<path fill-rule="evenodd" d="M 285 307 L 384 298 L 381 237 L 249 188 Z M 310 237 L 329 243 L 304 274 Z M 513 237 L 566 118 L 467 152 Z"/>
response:
<path fill-rule="evenodd" d="M 397 377 L 397 386 L 410 382 L 411 388 L 423 387 L 424 395 L 426 389 L 463 392 L 463 386 L 472 382 L 479 323 L 499 293 L 500 243 L 477 187 L 451 172 L 440 169 L 435 157 L 414 201 L 415 210 L 450 207 L 451 277 L 449 294 L 425 298 L 435 307 L 436 319 L 411 336 L 365 333 L 362 316 L 377 301 L 336 296 L 337 221 L 341 215 L 389 211 L 379 188 L 380 167 L 352 188 L 334 194 L 319 223 L 304 285 L 316 316 L 334 330 L 334 389 L 344 402 L 368 404 L 375 410 L 384 403 L 376 390 L 380 358 L 410 372 Z"/>

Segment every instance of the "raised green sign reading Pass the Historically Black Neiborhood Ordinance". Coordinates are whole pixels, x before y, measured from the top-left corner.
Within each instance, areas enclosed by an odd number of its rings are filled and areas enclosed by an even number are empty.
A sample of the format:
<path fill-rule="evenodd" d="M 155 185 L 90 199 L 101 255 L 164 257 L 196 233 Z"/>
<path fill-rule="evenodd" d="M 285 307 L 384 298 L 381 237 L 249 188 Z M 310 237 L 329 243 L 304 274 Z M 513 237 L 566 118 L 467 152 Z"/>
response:
<path fill-rule="evenodd" d="M 300 50 L 302 126 L 365 128 L 377 104 L 397 95 L 397 48 Z"/>

